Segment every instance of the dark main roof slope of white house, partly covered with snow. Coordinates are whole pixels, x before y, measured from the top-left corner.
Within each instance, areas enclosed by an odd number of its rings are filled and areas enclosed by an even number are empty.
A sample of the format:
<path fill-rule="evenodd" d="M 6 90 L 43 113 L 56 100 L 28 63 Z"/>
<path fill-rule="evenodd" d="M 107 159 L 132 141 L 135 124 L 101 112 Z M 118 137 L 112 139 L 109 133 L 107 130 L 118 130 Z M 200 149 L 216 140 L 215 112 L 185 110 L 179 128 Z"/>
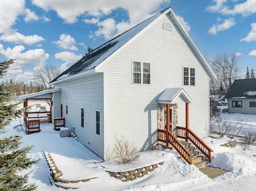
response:
<path fill-rule="evenodd" d="M 57 78 L 55 78 L 52 82 L 58 81 L 60 79 L 64 79 L 66 77 L 93 69 L 106 58 L 108 58 L 112 53 L 114 53 L 117 49 L 119 49 L 122 45 L 124 45 L 127 41 L 129 41 L 132 37 L 134 37 L 137 33 L 143 30 L 148 24 L 154 21 L 158 16 L 163 14 L 166 8 L 162 12 L 152 16 L 148 20 L 138 24 L 134 28 L 120 34 L 119 36 L 115 37 L 114 39 L 104 43 L 100 47 L 94 49 L 92 52 L 88 53 L 87 55 L 83 56 L 79 61 L 77 61 L 74 65 L 60 74 Z M 51 83 L 52 83 L 51 82 Z"/>

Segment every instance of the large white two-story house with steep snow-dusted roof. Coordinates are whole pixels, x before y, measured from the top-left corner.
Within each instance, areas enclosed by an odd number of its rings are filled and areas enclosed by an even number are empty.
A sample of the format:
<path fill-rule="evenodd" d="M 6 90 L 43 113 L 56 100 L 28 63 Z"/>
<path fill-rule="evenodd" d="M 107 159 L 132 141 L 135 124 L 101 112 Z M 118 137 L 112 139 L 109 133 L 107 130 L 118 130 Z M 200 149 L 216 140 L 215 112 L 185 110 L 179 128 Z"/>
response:
<path fill-rule="evenodd" d="M 189 124 L 204 138 L 210 132 L 211 79 L 212 69 L 167 8 L 54 79 L 52 119 L 65 118 L 77 140 L 103 159 L 111 155 L 115 134 L 148 150 L 158 141 L 158 129 L 166 129 L 166 119 L 171 133 Z"/>

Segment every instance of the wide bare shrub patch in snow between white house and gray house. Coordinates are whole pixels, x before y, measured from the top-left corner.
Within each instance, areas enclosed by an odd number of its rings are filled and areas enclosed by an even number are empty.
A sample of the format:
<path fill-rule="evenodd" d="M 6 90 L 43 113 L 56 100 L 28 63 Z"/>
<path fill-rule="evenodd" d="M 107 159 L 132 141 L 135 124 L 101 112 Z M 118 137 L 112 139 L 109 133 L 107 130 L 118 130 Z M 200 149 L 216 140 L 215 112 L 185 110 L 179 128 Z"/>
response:
<path fill-rule="evenodd" d="M 218 133 L 220 138 L 224 135 L 238 136 L 246 124 L 247 122 L 241 118 L 235 118 L 234 122 L 228 120 L 227 117 L 213 116 L 210 118 L 210 128 L 212 132 Z"/>

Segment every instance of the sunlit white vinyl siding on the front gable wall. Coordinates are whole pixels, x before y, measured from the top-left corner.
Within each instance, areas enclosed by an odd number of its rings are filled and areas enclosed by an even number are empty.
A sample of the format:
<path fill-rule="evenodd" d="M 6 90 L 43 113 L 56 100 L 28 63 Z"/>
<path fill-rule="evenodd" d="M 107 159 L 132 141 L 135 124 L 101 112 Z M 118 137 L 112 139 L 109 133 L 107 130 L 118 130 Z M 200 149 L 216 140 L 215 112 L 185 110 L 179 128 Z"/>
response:
<path fill-rule="evenodd" d="M 168 20 L 172 31 L 162 28 Z M 150 62 L 150 86 L 131 84 L 131 61 Z M 183 87 L 193 100 L 190 128 L 201 138 L 209 135 L 210 75 L 198 61 L 170 16 L 164 16 L 98 70 L 104 72 L 105 156 L 115 134 L 124 134 L 139 150 L 156 143 L 157 98 L 170 87 Z M 183 65 L 196 68 L 196 89 L 183 86 Z M 185 102 L 180 98 L 177 103 L 178 125 L 185 126 Z"/>

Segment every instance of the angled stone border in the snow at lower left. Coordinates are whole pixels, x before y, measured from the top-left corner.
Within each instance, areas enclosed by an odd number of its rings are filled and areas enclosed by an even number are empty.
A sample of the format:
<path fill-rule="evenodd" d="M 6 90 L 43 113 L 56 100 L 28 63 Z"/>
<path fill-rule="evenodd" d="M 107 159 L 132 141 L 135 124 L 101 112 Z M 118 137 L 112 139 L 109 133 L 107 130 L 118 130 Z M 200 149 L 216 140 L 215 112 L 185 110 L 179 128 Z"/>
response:
<path fill-rule="evenodd" d="M 81 179 L 81 180 L 64 180 L 64 179 L 60 179 L 58 177 L 60 177 L 62 175 L 61 171 L 58 169 L 58 167 L 56 166 L 56 163 L 54 162 L 54 160 L 52 159 L 52 156 L 50 155 L 49 152 L 44 152 L 44 156 L 46 158 L 46 161 L 48 163 L 48 166 L 50 168 L 50 177 L 52 178 L 52 180 L 54 182 L 61 182 L 61 183 L 78 183 L 78 182 L 87 182 L 90 181 L 91 179 L 95 179 L 97 177 L 94 178 L 89 178 L 89 179 Z M 50 178 L 49 177 L 49 178 Z M 52 182 L 51 182 L 52 183 Z M 62 185 L 58 185 L 56 183 L 54 183 L 54 185 L 56 187 L 62 187 L 64 189 L 78 189 L 78 188 L 74 188 L 74 187 L 66 187 L 66 186 L 62 186 Z"/>

